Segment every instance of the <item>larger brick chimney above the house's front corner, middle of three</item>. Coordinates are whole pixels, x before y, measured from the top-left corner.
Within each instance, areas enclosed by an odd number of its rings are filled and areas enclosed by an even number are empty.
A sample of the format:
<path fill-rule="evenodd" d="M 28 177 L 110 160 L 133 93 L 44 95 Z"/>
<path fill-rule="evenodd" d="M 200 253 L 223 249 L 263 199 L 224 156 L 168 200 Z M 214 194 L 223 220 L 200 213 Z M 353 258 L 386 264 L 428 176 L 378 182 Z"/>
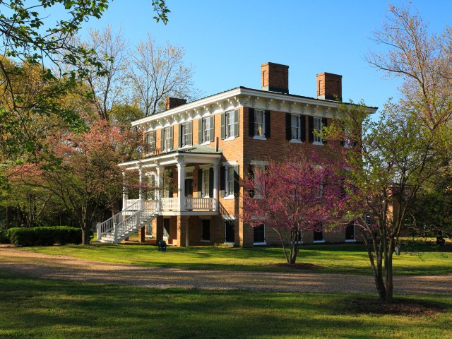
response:
<path fill-rule="evenodd" d="M 262 90 L 289 94 L 289 66 L 267 62 L 261 64 Z"/>

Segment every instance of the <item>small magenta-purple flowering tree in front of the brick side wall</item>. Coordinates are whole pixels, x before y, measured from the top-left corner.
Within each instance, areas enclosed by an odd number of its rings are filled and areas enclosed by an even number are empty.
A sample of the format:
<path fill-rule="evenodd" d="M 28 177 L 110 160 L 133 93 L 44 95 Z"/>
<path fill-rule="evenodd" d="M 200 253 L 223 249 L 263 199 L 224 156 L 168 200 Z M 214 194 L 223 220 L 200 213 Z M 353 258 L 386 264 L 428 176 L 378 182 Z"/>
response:
<path fill-rule="evenodd" d="M 338 169 L 306 155 L 255 167 L 242 181 L 241 218 L 275 230 L 287 263 L 295 264 L 306 232 L 343 224 L 347 197 Z"/>

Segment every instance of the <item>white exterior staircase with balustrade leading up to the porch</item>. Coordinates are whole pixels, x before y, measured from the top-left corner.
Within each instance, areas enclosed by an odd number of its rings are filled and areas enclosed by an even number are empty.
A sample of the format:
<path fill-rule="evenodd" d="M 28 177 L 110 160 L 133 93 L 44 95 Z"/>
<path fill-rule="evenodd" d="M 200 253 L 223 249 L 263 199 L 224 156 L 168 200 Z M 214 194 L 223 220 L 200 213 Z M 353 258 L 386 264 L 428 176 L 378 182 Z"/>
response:
<path fill-rule="evenodd" d="M 119 244 L 157 217 L 156 201 L 136 201 L 104 222 L 97 223 L 97 241 Z"/>

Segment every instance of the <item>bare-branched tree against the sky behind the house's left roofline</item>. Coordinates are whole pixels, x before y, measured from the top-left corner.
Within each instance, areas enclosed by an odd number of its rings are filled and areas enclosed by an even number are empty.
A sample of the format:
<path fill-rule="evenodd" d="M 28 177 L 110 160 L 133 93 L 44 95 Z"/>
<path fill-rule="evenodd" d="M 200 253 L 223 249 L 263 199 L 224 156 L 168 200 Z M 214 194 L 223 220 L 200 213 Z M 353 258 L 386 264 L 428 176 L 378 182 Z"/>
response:
<path fill-rule="evenodd" d="M 189 101 L 197 96 L 193 85 L 193 69 L 184 65 L 182 47 L 158 45 L 153 37 L 140 42 L 131 58 L 129 81 L 133 96 L 145 115 L 165 107 L 165 97 Z"/>

